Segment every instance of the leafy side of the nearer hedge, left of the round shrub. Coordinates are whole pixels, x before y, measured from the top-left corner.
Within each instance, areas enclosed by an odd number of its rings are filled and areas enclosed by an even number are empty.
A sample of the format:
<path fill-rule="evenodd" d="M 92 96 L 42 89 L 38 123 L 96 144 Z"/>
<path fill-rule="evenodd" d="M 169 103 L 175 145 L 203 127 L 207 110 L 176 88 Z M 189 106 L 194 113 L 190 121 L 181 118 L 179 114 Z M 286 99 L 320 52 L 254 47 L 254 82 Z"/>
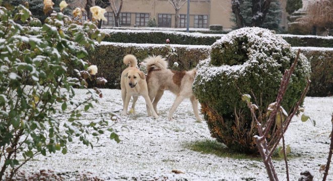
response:
<path fill-rule="evenodd" d="M 98 65 L 98 73 L 96 76 L 103 76 L 107 79 L 107 83 L 103 88 L 120 88 L 120 76 L 122 71 L 126 68 L 123 63 L 123 58 L 127 54 L 133 54 L 141 62 L 149 55 L 162 55 L 168 56 L 169 67 L 175 70 L 190 70 L 196 66 L 199 60 L 205 59 L 209 55 L 209 49 L 195 49 L 178 47 L 176 48 L 177 55 L 170 55 L 170 46 L 146 46 L 139 47 L 135 45 L 96 45 L 94 51 L 88 51 L 87 60 L 94 65 Z M 179 64 L 178 67 L 173 66 L 174 62 Z M 73 64 L 70 61 L 66 63 L 69 72 L 75 76 L 73 71 L 75 68 L 81 67 Z M 95 77 L 93 76 L 89 86 L 95 86 Z"/>

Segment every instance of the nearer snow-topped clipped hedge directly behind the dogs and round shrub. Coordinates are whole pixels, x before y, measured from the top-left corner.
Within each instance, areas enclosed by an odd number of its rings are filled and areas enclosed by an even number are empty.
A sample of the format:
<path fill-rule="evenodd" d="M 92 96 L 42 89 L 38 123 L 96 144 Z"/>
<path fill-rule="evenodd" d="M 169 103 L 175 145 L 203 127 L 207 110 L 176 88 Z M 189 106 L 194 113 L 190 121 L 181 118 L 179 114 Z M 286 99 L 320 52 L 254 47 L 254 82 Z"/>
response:
<path fill-rule="evenodd" d="M 333 96 L 333 49 L 300 48 L 311 62 L 311 85 L 307 96 Z M 293 49 L 296 51 L 298 48 Z M 94 51 L 89 51 L 86 59 L 98 66 L 96 77 L 103 76 L 107 79 L 108 82 L 102 88 L 120 88 L 120 75 L 126 68 L 123 64 L 123 57 L 127 54 L 134 54 L 139 62 L 149 55 L 162 55 L 167 57 L 171 69 L 189 70 L 194 68 L 200 60 L 206 59 L 210 51 L 210 46 L 138 45 L 104 42 L 101 45 L 96 45 Z M 175 62 L 178 63 L 178 66 L 174 65 Z M 74 68 L 82 68 L 71 63 L 68 63 L 68 66 L 72 76 L 76 76 Z M 92 77 L 92 79 L 94 78 Z M 89 85 L 96 86 L 94 82 L 91 81 Z"/>

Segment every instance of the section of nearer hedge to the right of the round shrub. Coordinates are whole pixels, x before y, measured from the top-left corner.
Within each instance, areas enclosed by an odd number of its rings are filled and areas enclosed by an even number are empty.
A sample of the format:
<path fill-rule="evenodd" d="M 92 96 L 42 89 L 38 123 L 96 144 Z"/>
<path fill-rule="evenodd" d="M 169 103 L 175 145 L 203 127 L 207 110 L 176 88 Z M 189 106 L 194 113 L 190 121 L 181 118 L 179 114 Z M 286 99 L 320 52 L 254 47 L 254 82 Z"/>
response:
<path fill-rule="evenodd" d="M 311 62 L 311 84 L 307 96 L 333 96 L 333 51 L 303 51 Z"/>

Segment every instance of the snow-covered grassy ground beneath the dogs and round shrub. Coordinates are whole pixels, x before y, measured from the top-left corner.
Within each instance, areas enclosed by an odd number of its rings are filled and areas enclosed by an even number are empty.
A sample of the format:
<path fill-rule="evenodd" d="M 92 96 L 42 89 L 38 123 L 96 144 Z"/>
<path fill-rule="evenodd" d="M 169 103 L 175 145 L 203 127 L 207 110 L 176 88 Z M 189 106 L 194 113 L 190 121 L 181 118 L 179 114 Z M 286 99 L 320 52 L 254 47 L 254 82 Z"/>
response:
<path fill-rule="evenodd" d="M 77 97 L 85 91 L 77 89 Z M 104 97 L 93 109 L 83 113 L 82 122 L 97 119 L 99 113 L 122 110 L 121 91 L 102 89 Z M 22 170 L 35 172 L 50 169 L 65 173 L 64 180 L 75 180 L 75 173 L 89 173 L 105 180 L 268 180 L 261 161 L 218 157 L 192 151 L 185 145 L 195 141 L 213 140 L 205 121 L 196 122 L 189 100 L 177 109 L 174 121 L 168 120 L 168 112 L 175 96 L 165 92 L 158 105 L 160 118 L 147 117 L 144 99 L 139 98 L 136 114 L 121 117 L 112 128 L 118 130 L 120 143 L 103 135 L 94 143 L 94 149 L 79 140 L 69 144 L 66 155 L 38 156 L 29 161 Z M 290 180 L 297 180 L 303 169 L 310 169 L 315 179 L 321 178 L 319 166 L 326 163 L 329 150 L 329 133 L 333 97 L 311 98 L 304 102 L 305 111 L 317 125 L 301 122 L 295 117 L 286 134 L 286 144 L 292 148 L 289 159 Z M 202 116 L 202 115 L 201 115 Z M 274 160 L 280 180 L 287 180 L 285 163 Z M 177 169 L 184 173 L 176 174 Z M 254 178 L 254 179 L 249 179 Z M 327 180 L 333 180 L 329 175 Z"/>

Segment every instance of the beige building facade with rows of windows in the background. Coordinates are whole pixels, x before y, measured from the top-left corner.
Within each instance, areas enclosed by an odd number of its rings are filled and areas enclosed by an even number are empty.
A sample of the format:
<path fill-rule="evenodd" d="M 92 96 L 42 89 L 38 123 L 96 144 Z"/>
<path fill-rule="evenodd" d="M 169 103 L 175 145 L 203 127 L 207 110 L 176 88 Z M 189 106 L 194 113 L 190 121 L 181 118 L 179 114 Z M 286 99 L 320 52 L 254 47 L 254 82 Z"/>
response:
<path fill-rule="evenodd" d="M 116 5 L 119 7 L 119 0 Z M 286 6 L 286 0 L 281 0 L 281 6 Z M 104 14 L 108 20 L 102 26 L 114 26 L 112 9 L 106 8 Z M 282 13 L 282 26 L 287 26 L 285 8 Z M 187 3 L 179 11 L 179 28 L 186 28 Z M 158 27 L 175 27 L 175 9 L 168 0 L 123 0 L 120 26 L 147 27 L 149 18 L 155 18 Z M 231 0 L 190 0 L 190 28 L 209 28 L 209 25 L 222 25 L 224 29 L 231 29 Z"/>

